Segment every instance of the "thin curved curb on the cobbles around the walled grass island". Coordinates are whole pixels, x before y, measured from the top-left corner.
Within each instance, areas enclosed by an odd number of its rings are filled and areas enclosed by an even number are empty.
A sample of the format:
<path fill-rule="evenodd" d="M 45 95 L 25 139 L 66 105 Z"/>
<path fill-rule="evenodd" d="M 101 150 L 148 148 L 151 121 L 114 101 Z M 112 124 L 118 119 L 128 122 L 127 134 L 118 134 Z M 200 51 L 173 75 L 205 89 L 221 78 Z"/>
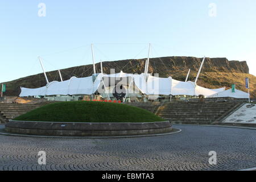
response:
<path fill-rule="evenodd" d="M 2 133 L 0 135 L 14 136 L 14 137 L 35 137 L 35 138 L 76 138 L 76 139 L 108 139 L 108 138 L 138 138 L 138 137 L 157 137 L 162 135 L 171 135 L 180 133 L 182 130 L 173 127 L 172 129 L 178 130 L 171 133 L 163 133 L 163 134 L 151 134 L 151 135 L 128 135 L 128 136 L 115 136 L 115 137 L 57 137 L 57 136 L 43 136 L 43 135 L 23 135 L 23 134 L 13 134 L 13 133 Z M 1 131 L 1 129 L 0 129 Z"/>

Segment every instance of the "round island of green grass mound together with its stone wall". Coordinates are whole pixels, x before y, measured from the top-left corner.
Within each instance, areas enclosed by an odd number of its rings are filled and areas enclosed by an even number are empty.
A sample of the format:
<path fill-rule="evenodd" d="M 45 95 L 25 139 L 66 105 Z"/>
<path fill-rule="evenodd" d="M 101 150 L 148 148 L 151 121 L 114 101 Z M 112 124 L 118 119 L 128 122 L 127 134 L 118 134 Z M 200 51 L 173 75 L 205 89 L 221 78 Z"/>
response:
<path fill-rule="evenodd" d="M 169 121 L 150 111 L 109 102 L 56 102 L 6 123 L 9 133 L 59 137 L 117 137 L 165 134 Z"/>

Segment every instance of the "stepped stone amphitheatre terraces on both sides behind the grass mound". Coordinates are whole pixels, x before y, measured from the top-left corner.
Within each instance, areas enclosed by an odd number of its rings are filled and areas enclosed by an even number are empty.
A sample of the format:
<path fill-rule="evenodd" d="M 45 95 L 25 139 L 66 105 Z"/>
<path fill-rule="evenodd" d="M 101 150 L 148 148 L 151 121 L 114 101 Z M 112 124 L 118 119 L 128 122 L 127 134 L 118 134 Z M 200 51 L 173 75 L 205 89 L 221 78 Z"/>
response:
<path fill-rule="evenodd" d="M 56 101 L 40 101 L 34 104 L 0 104 L 0 123 L 27 113 L 42 105 Z M 214 125 L 243 102 L 126 102 L 125 104 L 151 111 L 172 123 Z"/>

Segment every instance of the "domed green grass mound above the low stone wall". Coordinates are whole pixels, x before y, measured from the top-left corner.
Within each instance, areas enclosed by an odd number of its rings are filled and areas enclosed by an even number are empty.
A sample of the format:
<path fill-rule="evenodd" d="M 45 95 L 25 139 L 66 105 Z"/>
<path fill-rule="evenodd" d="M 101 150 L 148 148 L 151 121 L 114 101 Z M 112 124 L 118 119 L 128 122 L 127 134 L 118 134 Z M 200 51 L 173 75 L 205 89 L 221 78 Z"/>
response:
<path fill-rule="evenodd" d="M 56 102 L 14 118 L 16 121 L 51 122 L 158 122 L 164 119 L 150 111 L 117 103 Z"/>

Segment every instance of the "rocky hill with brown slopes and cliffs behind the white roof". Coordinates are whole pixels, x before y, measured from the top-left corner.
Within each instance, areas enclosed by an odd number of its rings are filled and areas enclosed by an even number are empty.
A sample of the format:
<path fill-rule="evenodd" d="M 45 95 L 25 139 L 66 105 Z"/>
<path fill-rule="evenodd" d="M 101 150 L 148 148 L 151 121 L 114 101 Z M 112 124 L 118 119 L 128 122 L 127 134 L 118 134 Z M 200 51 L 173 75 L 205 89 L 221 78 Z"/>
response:
<path fill-rule="evenodd" d="M 143 73 L 146 59 L 105 61 L 102 62 L 104 73 L 110 73 L 110 68 L 115 69 L 115 73 L 121 70 L 126 73 Z M 150 59 L 148 71 L 159 73 L 160 77 L 168 77 L 180 81 L 185 81 L 188 69 L 191 69 L 189 80 L 195 81 L 197 71 L 200 67 L 202 58 L 197 57 L 156 57 Z M 81 65 L 60 70 L 64 80 L 72 76 L 86 77 L 93 73 L 93 65 Z M 96 64 L 96 71 L 100 72 L 100 63 Z M 49 81 L 60 81 L 57 71 L 47 72 Z M 198 85 L 207 88 L 220 88 L 226 86 L 230 88 L 236 84 L 236 88 L 247 92 L 245 89 L 245 77 L 250 78 L 251 97 L 256 98 L 256 77 L 249 74 L 246 61 L 229 61 L 226 58 L 206 58 L 203 69 L 197 82 Z M 43 73 L 27 76 L 17 80 L 6 82 L 6 95 L 18 96 L 20 86 L 26 88 L 38 88 L 46 85 Z"/>

